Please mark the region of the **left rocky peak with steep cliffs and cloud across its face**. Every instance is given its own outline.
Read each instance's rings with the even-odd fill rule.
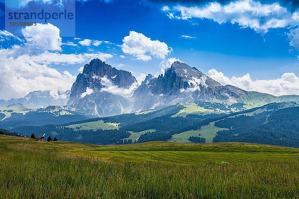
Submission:
[[[95,116],[116,115],[130,111],[131,101],[122,94],[136,78],[128,71],[117,70],[99,59],[84,66],[72,86],[68,105],[76,111]],[[119,90],[117,90],[119,89]]]

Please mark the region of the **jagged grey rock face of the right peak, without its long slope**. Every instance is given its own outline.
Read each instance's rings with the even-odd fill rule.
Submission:
[[[136,107],[141,110],[195,100],[229,99],[221,84],[178,61],[164,75],[153,78],[149,74],[134,98]]]

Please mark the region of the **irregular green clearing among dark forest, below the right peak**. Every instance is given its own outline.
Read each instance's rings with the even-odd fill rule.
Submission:
[[[188,139],[190,136],[198,136],[206,139],[206,143],[212,143],[213,138],[216,136],[217,131],[227,130],[227,128],[220,128],[215,126],[215,122],[202,126],[199,130],[189,130],[182,133],[172,135],[172,138],[167,140],[170,142],[191,143]]]

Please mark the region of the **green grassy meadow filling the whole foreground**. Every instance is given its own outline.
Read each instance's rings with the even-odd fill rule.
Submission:
[[[258,144],[96,146],[0,136],[0,198],[296,199],[299,150]]]

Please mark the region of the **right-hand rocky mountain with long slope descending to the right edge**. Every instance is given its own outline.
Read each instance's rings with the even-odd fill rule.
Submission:
[[[164,75],[148,75],[134,93],[135,107],[139,110],[161,108],[175,103],[196,100],[225,104],[244,103],[246,108],[270,102],[299,101],[299,96],[275,97],[258,92],[247,92],[209,78],[195,67],[174,62]]]

